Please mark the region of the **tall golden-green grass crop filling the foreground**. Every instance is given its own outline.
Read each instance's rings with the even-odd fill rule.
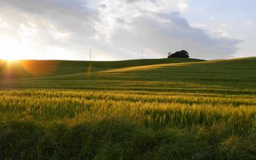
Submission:
[[[99,143],[97,140],[102,140],[100,144],[103,146],[108,143],[113,145],[131,143],[131,146],[137,149],[140,147],[136,145],[137,143],[142,143],[141,145],[145,145],[144,147],[150,144],[148,147],[158,149],[174,143],[177,148],[170,146],[168,147],[169,150],[175,149],[178,152],[183,152],[183,155],[179,156],[166,153],[166,157],[193,157],[196,153],[202,154],[202,157],[212,158],[234,157],[237,155],[252,157],[253,155],[249,153],[245,155],[243,151],[254,151],[253,146],[250,145],[253,145],[255,141],[250,140],[255,140],[255,99],[255,95],[211,93],[160,92],[156,94],[141,91],[9,90],[0,92],[0,123],[5,126],[5,129],[21,129],[22,132],[30,128],[26,127],[28,122],[31,122],[29,125],[32,125],[32,130],[39,129],[37,131],[39,133],[42,132],[40,131],[42,127],[44,131],[49,129],[45,134],[37,135],[41,137],[37,142],[38,146],[42,148],[42,150],[39,150],[40,157],[51,157],[60,154],[60,152],[55,154],[45,152],[43,149],[45,144],[41,144],[40,140],[43,140],[45,136],[48,137],[48,132],[52,134],[49,139],[55,139],[54,137],[57,134],[66,134],[61,135],[64,137],[75,136],[68,138],[68,140],[71,140],[68,142],[65,141],[67,137],[56,137],[54,142],[74,145],[75,148],[71,150],[77,152],[77,154],[73,157],[83,157],[80,155],[82,154],[80,151],[83,150],[79,148],[81,142],[76,140],[80,136],[89,136],[90,139],[96,139],[93,143]],[[58,124],[61,126],[58,126]],[[114,133],[111,134],[112,132]],[[36,134],[34,131],[32,133]],[[2,135],[2,137],[5,136],[6,134]],[[115,137],[113,140],[112,136]],[[131,136],[134,137],[131,138]],[[189,141],[183,141],[180,136],[183,139],[189,139]],[[102,137],[106,137],[106,139]],[[38,140],[36,137],[30,137],[27,140],[31,140],[31,138]],[[234,139],[239,140],[239,143],[232,141]],[[168,140],[174,141],[170,144]],[[30,142],[26,141],[26,143]],[[84,147],[90,146],[85,141],[82,143],[84,143]],[[183,143],[186,144],[188,151],[179,148],[183,146]],[[204,143],[207,147],[213,145],[219,148],[207,151],[206,148],[204,149]],[[236,154],[229,153],[227,155],[227,147],[235,144],[238,147],[235,149]],[[245,144],[250,145],[244,146]],[[191,145],[197,146],[197,150],[194,151]],[[146,156],[145,154],[148,151],[154,154],[155,158],[165,157],[156,148],[151,150],[143,147],[141,152],[137,153],[137,151],[129,151],[131,146],[119,146],[118,150],[127,149],[124,154],[130,158],[138,156],[137,154]],[[50,147],[57,150],[52,144]],[[108,149],[96,149],[95,147],[90,146],[88,149],[90,151],[114,151],[114,146],[109,146]],[[28,148],[30,147],[28,146]],[[60,149],[66,151],[65,147]],[[12,150],[8,146],[3,151]],[[10,152],[10,155],[15,154],[15,152],[18,153],[19,151]],[[32,156],[30,151],[28,153]],[[109,156],[105,153],[94,153],[94,155],[99,157]],[[120,157],[118,155],[116,156]],[[68,155],[66,156],[68,157]],[[58,157],[61,157],[61,155]],[[84,155],[84,157],[90,156]]]

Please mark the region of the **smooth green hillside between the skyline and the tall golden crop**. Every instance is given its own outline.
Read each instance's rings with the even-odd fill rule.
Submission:
[[[15,76],[9,80],[11,82],[9,84],[6,84],[6,78],[3,79],[2,71],[3,80],[0,81],[0,85],[3,88],[46,89],[129,89],[129,87],[146,89],[145,86],[148,85],[148,89],[172,89],[171,87],[176,88],[182,84],[193,83],[230,89],[256,88],[256,58],[210,61],[127,60],[91,63],[54,61],[54,63],[57,64],[55,70],[40,77],[33,77],[18,66],[18,69],[12,70],[15,72]],[[33,65],[37,64],[38,62],[33,63]],[[154,83],[166,84],[154,86]],[[166,85],[170,87],[166,88]],[[181,87],[183,88],[183,86]]]

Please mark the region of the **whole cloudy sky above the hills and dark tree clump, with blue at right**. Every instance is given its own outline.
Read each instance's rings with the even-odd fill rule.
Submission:
[[[0,59],[256,56],[253,0],[0,0]]]

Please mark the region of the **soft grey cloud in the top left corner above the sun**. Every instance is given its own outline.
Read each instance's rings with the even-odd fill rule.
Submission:
[[[90,9],[86,3],[79,0],[9,0],[0,1],[0,6],[3,12],[20,16],[21,19],[11,17],[20,23],[40,23],[39,19],[47,20],[51,25],[71,32],[93,33],[91,22],[97,19],[96,10]]]

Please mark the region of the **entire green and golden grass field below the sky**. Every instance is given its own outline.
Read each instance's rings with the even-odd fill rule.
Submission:
[[[256,58],[0,61],[0,159],[256,159]]]

